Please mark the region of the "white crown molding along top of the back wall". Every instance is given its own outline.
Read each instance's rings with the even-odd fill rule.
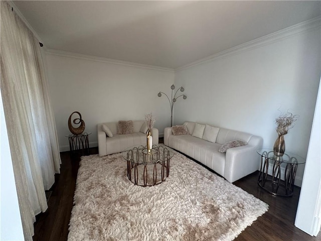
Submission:
[[[134,67],[134,68],[159,70],[159,71],[166,71],[166,72],[173,72],[173,73],[175,72],[174,69],[171,69],[171,68],[158,67],[158,66],[148,65],[148,64],[138,64],[134,62],[96,57],[96,56],[91,56],[86,54],[77,54],[77,53],[65,52],[65,51],[55,50],[55,49],[46,49],[46,53],[50,55],[56,55],[56,56],[61,56],[66,58],[82,59],[82,60],[101,62],[101,63],[107,63],[107,64],[118,64],[118,65],[123,65],[128,67]]]

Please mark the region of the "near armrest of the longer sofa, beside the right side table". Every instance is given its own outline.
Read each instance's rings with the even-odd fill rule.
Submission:
[[[263,139],[253,136],[248,145],[226,151],[224,177],[229,182],[245,177],[260,168],[260,156],[256,150],[262,148]]]

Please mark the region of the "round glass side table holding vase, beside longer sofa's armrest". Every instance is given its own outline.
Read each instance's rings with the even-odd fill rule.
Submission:
[[[305,163],[305,159],[289,152],[284,153],[282,157],[278,157],[274,155],[273,149],[266,148],[257,150],[257,153],[261,156],[258,185],[275,196],[292,196],[297,165]],[[284,167],[284,179],[281,178],[282,165]],[[272,175],[268,175],[269,168]]]

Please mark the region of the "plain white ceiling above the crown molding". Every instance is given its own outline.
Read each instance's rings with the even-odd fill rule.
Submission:
[[[176,69],[321,15],[320,1],[14,1],[49,49]]]

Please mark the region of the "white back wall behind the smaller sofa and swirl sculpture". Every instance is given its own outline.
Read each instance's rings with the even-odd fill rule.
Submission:
[[[159,134],[170,125],[170,108],[157,97],[174,83],[174,71],[118,64],[83,55],[48,51],[48,80],[60,151],[69,151],[68,118],[79,111],[90,146],[97,144],[97,124],[144,119],[152,112]],[[76,114],[74,116],[77,116]]]

